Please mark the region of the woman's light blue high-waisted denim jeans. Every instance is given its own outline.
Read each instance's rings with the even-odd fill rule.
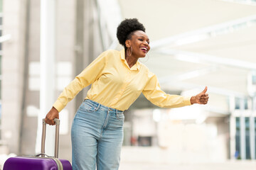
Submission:
[[[118,169],[123,124],[123,111],[91,100],[82,102],[71,128],[73,170]]]

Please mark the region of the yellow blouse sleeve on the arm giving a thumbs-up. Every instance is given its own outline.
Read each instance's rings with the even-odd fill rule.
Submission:
[[[149,79],[142,94],[144,94],[151,103],[161,108],[178,108],[191,105],[191,96],[171,95],[161,91],[156,75],[151,72],[149,72]]]

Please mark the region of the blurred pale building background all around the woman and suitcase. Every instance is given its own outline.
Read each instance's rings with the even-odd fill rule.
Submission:
[[[139,96],[124,113],[120,169],[256,169],[255,0],[0,0],[0,167],[40,152],[41,118],[101,52],[122,49],[124,18],[144,24],[151,51],[141,62],[161,89],[208,86],[210,100],[166,109]],[[60,112],[60,158],[71,160],[86,92]]]

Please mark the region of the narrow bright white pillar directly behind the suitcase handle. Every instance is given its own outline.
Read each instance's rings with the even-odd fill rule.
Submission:
[[[42,119],[55,101],[55,0],[41,1],[41,87],[40,87],[40,115],[38,115],[38,132],[36,138],[36,152],[41,152]],[[55,127],[47,126],[46,154],[54,155]]]

